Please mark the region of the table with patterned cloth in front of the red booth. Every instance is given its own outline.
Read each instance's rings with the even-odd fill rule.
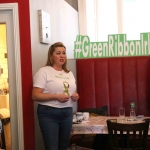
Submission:
[[[80,124],[72,125],[71,134],[108,134],[107,130],[107,119],[117,119],[117,122],[122,123],[139,123],[142,122],[143,119],[148,118],[144,117],[142,119],[137,119],[137,121],[127,121],[129,117],[125,117],[125,120],[122,121],[119,117],[104,117],[104,116],[90,116],[88,121],[83,121]],[[149,129],[150,134],[150,129]]]

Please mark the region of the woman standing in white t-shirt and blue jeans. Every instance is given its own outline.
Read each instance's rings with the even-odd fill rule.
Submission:
[[[45,150],[67,150],[72,128],[73,101],[79,99],[75,78],[66,67],[66,47],[54,43],[46,66],[34,76],[32,98],[38,102],[37,115]]]

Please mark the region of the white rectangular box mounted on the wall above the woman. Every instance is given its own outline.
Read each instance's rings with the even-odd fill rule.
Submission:
[[[50,14],[43,10],[38,10],[39,14],[39,34],[41,43],[50,43]]]

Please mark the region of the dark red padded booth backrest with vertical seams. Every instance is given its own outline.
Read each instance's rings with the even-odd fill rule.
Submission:
[[[109,115],[126,115],[130,101],[136,114],[150,116],[150,57],[77,59],[78,111],[107,105]]]

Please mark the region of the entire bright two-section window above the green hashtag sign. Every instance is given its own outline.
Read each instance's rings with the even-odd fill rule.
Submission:
[[[87,35],[91,42],[107,41],[108,35],[120,34],[118,28],[127,34],[127,40],[138,40],[140,33],[150,32],[150,0],[84,1]]]

